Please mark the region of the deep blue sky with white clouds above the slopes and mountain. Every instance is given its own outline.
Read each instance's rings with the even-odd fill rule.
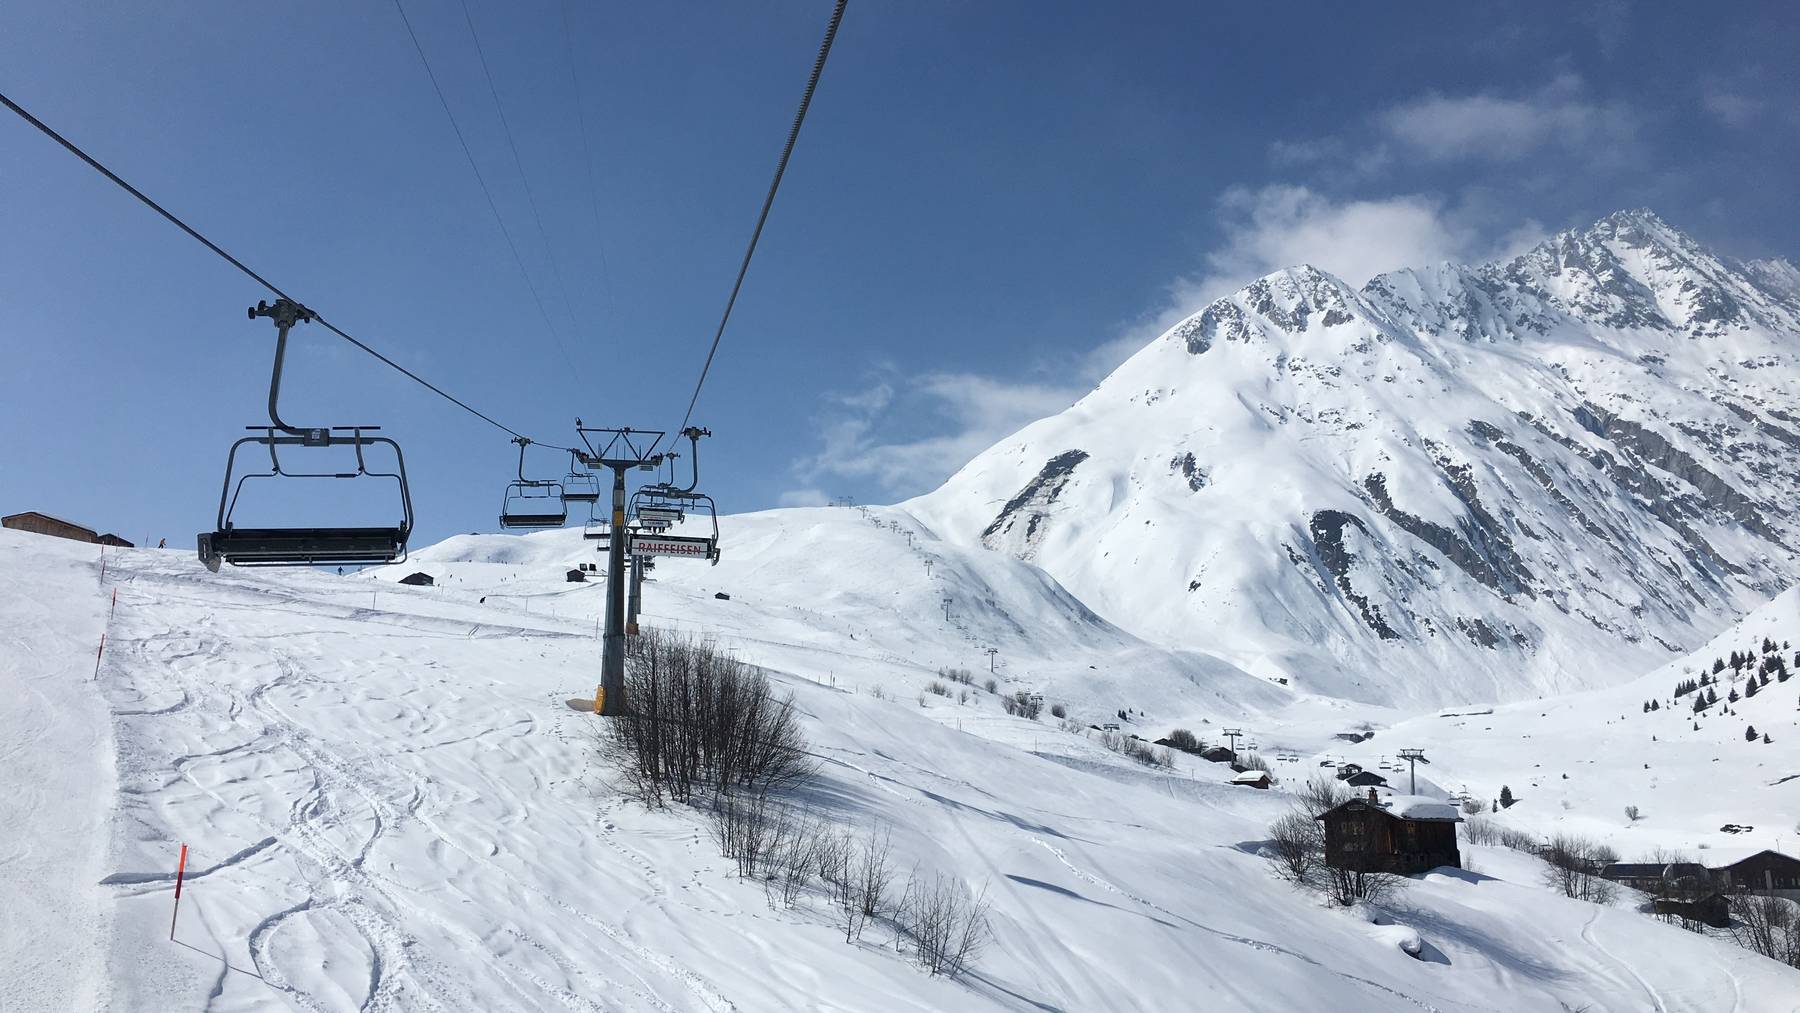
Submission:
[[[830,4],[468,0],[524,178],[461,4],[405,9],[554,333],[392,4],[13,0],[0,90],[515,428],[675,425]],[[1361,282],[1638,205],[1800,254],[1796,43],[1778,4],[853,0],[695,414],[706,486],[925,491],[1287,263]],[[265,295],[0,122],[0,513],[191,545]],[[493,529],[504,434],[322,333],[284,392],[407,446],[421,538]]]

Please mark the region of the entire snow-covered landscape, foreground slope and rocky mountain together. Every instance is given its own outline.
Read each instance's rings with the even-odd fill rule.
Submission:
[[[1793,268],[1649,212],[1292,268],[925,497],[659,561],[644,626],[792,693],[815,826],[988,905],[961,975],[621,790],[580,529],[346,576],[0,531],[0,1009],[1800,1009],[1800,970],[1514,847],[1348,907],[1269,856],[1345,763],[1627,862],[1800,853],[1800,680],[1742,693],[1800,669],[1796,342]],[[1120,750],[1175,729],[1274,788]]]

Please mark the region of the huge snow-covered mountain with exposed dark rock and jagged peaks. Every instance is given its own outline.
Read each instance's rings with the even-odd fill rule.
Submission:
[[[1796,353],[1793,264],[1649,211],[1361,291],[1296,266],[904,506],[1300,689],[1580,689],[1800,576]]]

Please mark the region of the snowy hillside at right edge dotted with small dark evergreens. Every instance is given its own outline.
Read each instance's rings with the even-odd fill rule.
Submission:
[[[1800,588],[1690,657],[1622,686],[1492,709],[1454,707],[1330,752],[1373,768],[1402,747],[1424,749],[1431,765],[1418,768],[1420,777],[1435,788],[1467,786],[1492,801],[1510,786],[1517,804],[1498,817],[1505,824],[1537,835],[1580,833],[1627,858],[1658,847],[1705,862],[1762,847],[1793,855],[1800,844],[1800,678],[1771,677],[1742,696],[1748,677],[1733,678],[1726,668],[1717,677],[1719,704],[1694,713],[1694,695],[1674,696],[1679,682],[1710,675],[1715,659],[1764,657],[1766,639],[1795,671]],[[1733,691],[1739,700],[1728,702]],[[1645,713],[1651,700],[1658,709]],[[1757,741],[1746,741],[1751,725]],[[1397,777],[1406,783],[1404,772]],[[1636,806],[1640,819],[1629,819],[1625,806]],[[1753,829],[1728,833],[1724,826]]]

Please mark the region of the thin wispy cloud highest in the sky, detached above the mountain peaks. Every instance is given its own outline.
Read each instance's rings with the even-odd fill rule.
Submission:
[[[1595,103],[1580,77],[1564,74],[1535,94],[1426,95],[1375,117],[1386,137],[1433,162],[1516,162],[1544,148],[1609,153],[1636,135],[1636,117]]]

